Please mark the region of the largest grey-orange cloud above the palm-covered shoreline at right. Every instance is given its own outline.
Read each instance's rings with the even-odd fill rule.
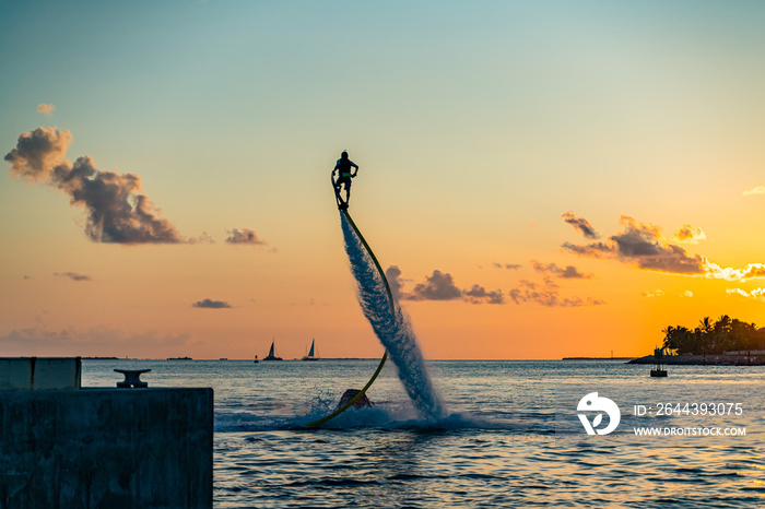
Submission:
[[[637,263],[643,270],[673,274],[703,274],[706,259],[690,257],[685,249],[667,242],[661,229],[651,224],[639,223],[623,215],[620,221],[624,230],[612,235],[608,242],[575,246],[565,242],[564,250],[591,258],[615,258],[626,263]]]

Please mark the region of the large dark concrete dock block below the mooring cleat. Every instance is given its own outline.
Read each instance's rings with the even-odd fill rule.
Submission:
[[[0,509],[212,507],[212,389],[0,391]]]

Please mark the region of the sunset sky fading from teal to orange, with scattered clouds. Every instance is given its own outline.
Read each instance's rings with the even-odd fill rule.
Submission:
[[[765,3],[0,2],[0,356],[427,358],[765,325]]]

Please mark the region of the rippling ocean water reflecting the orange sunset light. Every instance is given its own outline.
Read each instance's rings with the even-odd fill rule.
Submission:
[[[372,409],[305,427],[376,365],[83,360],[83,386],[151,368],[150,387],[212,387],[216,508],[765,507],[763,367],[670,366],[651,379],[649,366],[613,360],[428,362],[444,406],[432,421],[388,364]],[[609,422],[577,411],[592,392],[621,412],[609,435],[588,435],[578,417]]]

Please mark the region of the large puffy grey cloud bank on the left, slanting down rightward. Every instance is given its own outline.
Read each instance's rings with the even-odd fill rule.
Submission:
[[[64,158],[72,137],[69,131],[37,128],[19,137],[5,155],[11,175],[60,189],[73,205],[87,211],[85,234],[96,242],[174,244],[185,241],[175,227],[157,216],[154,204],[141,191],[133,174],[99,171],[91,156],[74,164]]]

